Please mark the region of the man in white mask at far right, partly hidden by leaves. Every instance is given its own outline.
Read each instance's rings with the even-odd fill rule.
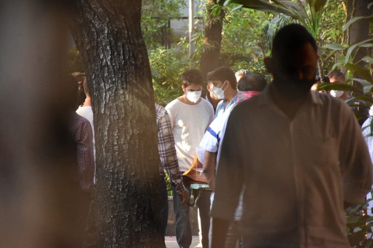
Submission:
[[[328,75],[330,83],[345,83],[345,75],[340,71],[333,71]],[[336,98],[342,99],[349,106],[351,106],[352,112],[354,112],[360,126],[363,125],[364,121],[367,120],[369,116],[369,108],[364,101],[360,99],[355,99],[353,96],[347,94],[343,90],[330,90],[330,95]]]

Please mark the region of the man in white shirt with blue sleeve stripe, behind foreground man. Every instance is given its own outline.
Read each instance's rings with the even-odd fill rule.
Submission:
[[[250,99],[252,96],[259,94],[264,88],[266,88],[266,80],[256,74],[250,74],[242,77],[237,84],[238,93],[237,93],[237,102],[242,102],[247,99]],[[212,191],[215,188],[215,173],[216,166],[219,163],[219,155],[221,150],[219,149],[224,136],[223,126],[226,118],[229,117],[229,113],[236,105],[232,106],[231,109],[226,111],[223,114],[220,114],[207,129],[204,134],[200,147],[201,152],[204,151],[204,155],[199,155],[198,159],[203,163],[203,172],[207,179],[207,182]],[[253,117],[255,118],[255,117]],[[239,147],[236,147],[239,149]],[[198,154],[198,153],[197,153]],[[214,193],[211,194],[211,204],[214,200]],[[233,221],[229,227],[227,233],[226,247],[235,247],[237,238],[238,238],[238,221],[241,220],[242,215],[242,199],[241,204],[237,209],[235,214],[235,221]],[[211,227],[210,227],[210,240],[211,240]]]

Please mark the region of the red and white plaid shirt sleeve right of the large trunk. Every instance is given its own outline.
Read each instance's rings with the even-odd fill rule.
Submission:
[[[170,118],[165,109],[161,112],[162,109],[162,106],[156,105],[157,117],[160,117],[158,120],[158,151],[162,165],[161,169],[166,170],[170,176],[170,181],[175,185],[176,192],[181,194],[186,188],[182,173],[179,171]]]

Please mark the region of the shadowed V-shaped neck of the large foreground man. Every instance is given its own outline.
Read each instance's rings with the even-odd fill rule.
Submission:
[[[269,92],[272,96],[273,102],[288,117],[290,121],[293,120],[295,114],[297,114],[298,109],[303,104],[305,99],[310,97],[310,93],[308,93],[307,95],[300,98],[291,98],[283,95],[281,91],[276,89],[276,85],[274,85],[273,83],[271,83],[269,87]]]

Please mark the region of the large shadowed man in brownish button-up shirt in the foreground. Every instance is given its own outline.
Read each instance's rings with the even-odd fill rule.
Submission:
[[[226,122],[212,247],[224,246],[243,186],[244,247],[350,247],[344,206],[372,185],[360,126],[346,104],[310,90],[317,46],[303,26],[280,29],[264,62],[273,82]]]

